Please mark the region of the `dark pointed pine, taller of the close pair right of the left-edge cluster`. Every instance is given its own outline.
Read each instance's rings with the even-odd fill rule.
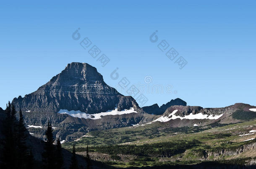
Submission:
[[[45,132],[47,141],[44,146],[43,163],[44,169],[55,168],[55,146],[53,145],[54,139],[52,134],[52,125],[48,121],[47,131]]]

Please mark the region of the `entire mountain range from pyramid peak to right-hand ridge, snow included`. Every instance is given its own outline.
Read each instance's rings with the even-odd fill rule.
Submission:
[[[171,127],[231,124],[255,118],[248,104],[224,108],[187,106],[180,98],[162,106],[139,107],[131,96],[123,96],[108,86],[97,69],[87,63],[69,63],[37,91],[14,98],[33,136],[44,139],[47,121],[53,135],[62,142],[73,141],[89,131],[106,130],[148,123],[170,123]],[[234,113],[234,114],[233,114]]]

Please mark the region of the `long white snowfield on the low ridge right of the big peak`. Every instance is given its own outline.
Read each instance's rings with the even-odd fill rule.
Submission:
[[[189,114],[187,116],[184,116],[184,117],[180,117],[180,116],[175,116],[175,113],[177,112],[178,110],[175,110],[175,111],[172,111],[171,114],[169,114],[168,116],[161,116],[159,117],[158,119],[154,120],[154,121],[161,121],[161,122],[167,122],[167,121],[170,121],[170,120],[174,120],[174,119],[219,119],[223,114],[220,114],[218,116],[213,116],[212,114],[211,115],[207,115],[207,114],[202,114],[202,113],[199,113],[199,114]],[[154,122],[153,121],[153,122]]]

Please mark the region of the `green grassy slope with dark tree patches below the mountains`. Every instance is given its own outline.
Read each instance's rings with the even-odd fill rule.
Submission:
[[[118,167],[198,164],[214,160],[246,164],[256,157],[255,146],[250,147],[256,144],[256,139],[245,141],[256,137],[256,133],[249,133],[251,130],[256,130],[256,121],[191,128],[154,123],[92,131],[63,147],[71,149],[75,144],[78,154],[84,154],[89,144],[92,159]]]

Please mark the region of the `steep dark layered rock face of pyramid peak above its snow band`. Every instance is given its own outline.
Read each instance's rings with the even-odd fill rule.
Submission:
[[[125,108],[139,108],[131,96],[123,96],[104,81],[97,69],[87,63],[70,63],[37,91],[13,99],[22,111],[58,112],[80,110],[94,114]]]

